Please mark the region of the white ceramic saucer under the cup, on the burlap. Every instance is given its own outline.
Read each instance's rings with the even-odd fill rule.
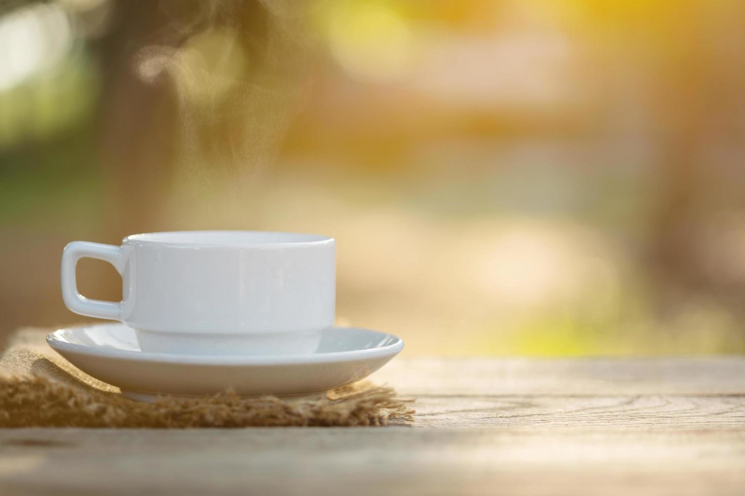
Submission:
[[[244,396],[322,393],[364,379],[404,347],[401,338],[384,332],[331,327],[320,331],[310,353],[144,352],[136,331],[122,323],[59,329],[47,343],[83,372],[141,401],[159,394],[210,395],[227,387]]]

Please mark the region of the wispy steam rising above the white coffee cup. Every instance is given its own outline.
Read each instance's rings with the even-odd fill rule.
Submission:
[[[174,207],[205,195],[241,204],[259,182],[302,101],[309,5],[162,2],[168,25],[134,68],[176,97]]]

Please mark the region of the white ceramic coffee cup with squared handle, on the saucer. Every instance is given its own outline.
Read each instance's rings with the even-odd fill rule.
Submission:
[[[77,292],[75,265],[83,257],[114,265],[122,301]],[[335,277],[334,239],[313,234],[145,233],[121,246],[71,242],[62,257],[66,306],[137,329],[142,349],[156,352],[312,351],[315,332],[334,323]]]

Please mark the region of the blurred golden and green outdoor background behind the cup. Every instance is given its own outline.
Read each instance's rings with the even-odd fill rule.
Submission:
[[[745,352],[744,61],[738,0],[3,1],[0,337],[225,228],[409,355]]]

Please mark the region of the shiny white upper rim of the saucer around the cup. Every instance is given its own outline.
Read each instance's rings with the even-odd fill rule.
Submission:
[[[364,327],[332,326],[329,329],[358,329],[375,335],[387,335],[395,338],[391,344],[367,350],[346,350],[324,353],[299,353],[295,355],[193,355],[156,353],[135,350],[112,350],[102,347],[92,347],[84,344],[70,343],[64,340],[63,332],[75,332],[77,329],[90,329],[99,326],[122,326],[123,323],[98,323],[86,326],[61,327],[50,332],[46,337],[47,344],[56,352],[75,353],[92,357],[105,357],[119,360],[148,361],[172,364],[244,366],[244,365],[288,365],[288,364],[319,364],[329,362],[358,361],[361,359],[386,358],[398,355],[404,348],[404,340],[390,332],[375,331]],[[321,331],[323,332],[323,331]]]

